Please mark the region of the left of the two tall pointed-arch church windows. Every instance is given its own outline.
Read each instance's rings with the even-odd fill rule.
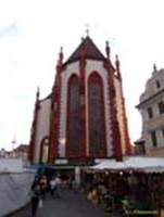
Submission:
[[[76,75],[73,75],[68,81],[68,152],[71,155],[78,153],[78,133],[79,133],[79,84]]]

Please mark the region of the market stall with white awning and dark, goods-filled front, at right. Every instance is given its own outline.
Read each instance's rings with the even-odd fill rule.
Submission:
[[[124,157],[123,162],[104,159],[86,173],[92,174],[92,182],[89,184],[97,189],[97,204],[105,203],[109,209],[123,212],[124,208],[126,212],[136,212],[136,216],[141,215],[138,212],[157,216],[164,206],[162,157],[129,156]]]

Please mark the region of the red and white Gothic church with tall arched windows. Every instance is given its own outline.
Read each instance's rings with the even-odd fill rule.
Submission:
[[[36,94],[29,145],[31,163],[90,164],[130,154],[119,61],[115,67],[87,36],[63,62],[59,54],[52,92]]]

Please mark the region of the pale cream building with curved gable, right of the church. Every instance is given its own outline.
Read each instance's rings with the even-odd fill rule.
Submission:
[[[164,156],[164,69],[157,71],[154,65],[137,107],[142,116],[141,138],[146,154]]]

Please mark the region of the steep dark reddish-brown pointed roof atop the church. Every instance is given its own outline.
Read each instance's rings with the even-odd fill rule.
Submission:
[[[91,40],[91,38],[87,36],[85,39],[83,39],[81,43],[73,52],[73,54],[67,59],[65,64],[78,61],[81,56],[83,50],[85,50],[84,56],[86,59],[99,60],[99,61],[105,59],[104,55],[101,53],[101,51],[97,48],[94,42]]]

